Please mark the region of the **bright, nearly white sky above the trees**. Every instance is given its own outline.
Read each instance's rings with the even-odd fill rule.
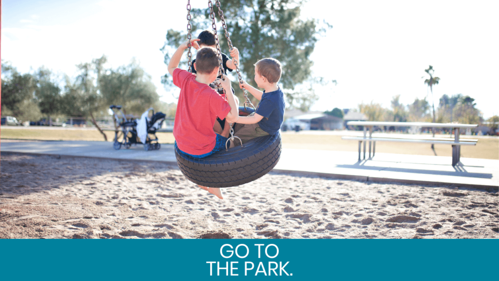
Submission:
[[[191,0],[191,5],[207,2]],[[172,93],[178,92],[161,84],[167,66],[160,48],[168,29],[186,29],[186,4],[2,0],[1,59],[21,73],[44,65],[74,75],[76,64],[102,54],[113,68],[135,58],[152,76],[161,100],[176,102]],[[461,93],[475,98],[485,118],[498,115],[498,11],[496,0],[309,0],[301,16],[333,25],[310,56],[313,73],[337,81],[314,87],[319,100],[311,109],[357,108],[371,101],[389,107],[398,94],[404,104],[431,100],[422,78],[431,64],[440,77],[433,88],[436,106],[443,94]]]

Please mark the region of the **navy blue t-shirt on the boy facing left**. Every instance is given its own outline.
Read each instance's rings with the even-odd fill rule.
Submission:
[[[285,107],[284,94],[280,87],[271,92],[263,91],[261,100],[256,106],[256,113],[263,116],[258,122],[260,128],[268,134],[276,133],[282,125]]]

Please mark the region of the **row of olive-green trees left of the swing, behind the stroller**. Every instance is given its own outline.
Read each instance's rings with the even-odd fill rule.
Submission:
[[[135,60],[117,69],[105,68],[106,61],[103,55],[76,65],[78,75],[74,79],[65,75],[62,89],[49,69],[20,74],[2,62],[2,114],[36,121],[55,115],[108,115],[111,104],[123,105],[137,115],[148,107],[158,109],[159,95],[151,76]]]

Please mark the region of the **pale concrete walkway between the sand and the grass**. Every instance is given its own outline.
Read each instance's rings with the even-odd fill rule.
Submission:
[[[3,139],[0,152],[54,154],[119,160],[162,161],[176,165],[173,144],[145,151],[142,145],[114,150],[104,141],[19,141]],[[357,161],[357,152],[283,148],[273,171],[316,174],[364,181],[394,181],[416,184],[470,186],[498,190],[499,160],[461,158],[453,167],[450,156],[376,153],[373,159]]]

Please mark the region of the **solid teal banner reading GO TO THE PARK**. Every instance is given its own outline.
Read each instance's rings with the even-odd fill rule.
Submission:
[[[499,240],[0,240],[1,280],[485,280]]]

